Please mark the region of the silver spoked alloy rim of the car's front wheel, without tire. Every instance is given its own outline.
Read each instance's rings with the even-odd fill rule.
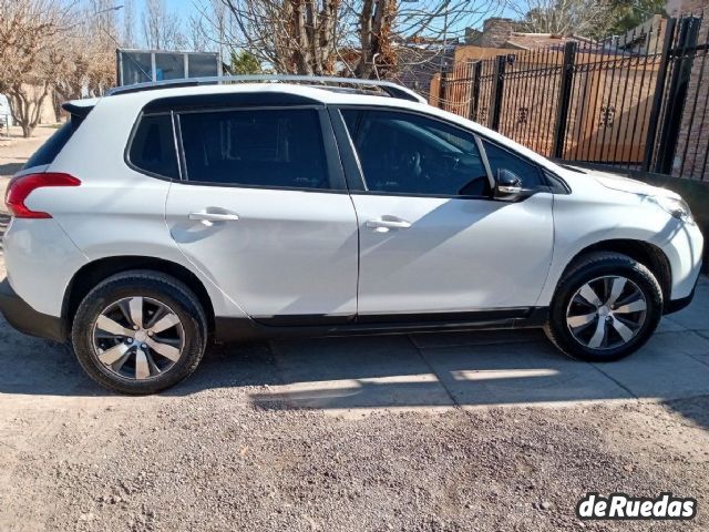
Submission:
[[[638,285],[623,276],[604,276],[576,290],[566,310],[566,326],[582,346],[616,349],[637,336],[646,313],[647,300]]]

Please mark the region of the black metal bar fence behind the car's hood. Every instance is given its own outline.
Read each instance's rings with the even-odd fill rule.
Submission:
[[[544,155],[709,181],[709,23],[655,18],[444,73],[439,105]]]

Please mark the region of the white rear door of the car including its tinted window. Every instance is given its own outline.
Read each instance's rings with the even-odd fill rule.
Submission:
[[[357,310],[358,227],[322,106],[175,113],[183,181],[166,222],[195,267],[274,325]]]

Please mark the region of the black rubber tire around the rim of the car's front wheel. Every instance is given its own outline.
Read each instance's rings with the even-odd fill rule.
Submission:
[[[623,276],[631,280],[645,297],[646,309],[643,324],[627,342],[618,347],[594,349],[572,334],[572,326],[567,325],[567,310],[577,290],[604,276]],[[544,330],[549,340],[572,358],[593,362],[618,360],[638,350],[653,336],[662,316],[662,303],[660,285],[646,266],[619,253],[592,253],[576,259],[559,280]]]

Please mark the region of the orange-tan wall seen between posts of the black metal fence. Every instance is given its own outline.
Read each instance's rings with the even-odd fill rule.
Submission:
[[[500,133],[547,156],[553,154],[563,59],[561,49],[520,52],[505,74]],[[483,61],[475,115],[471,114],[472,61],[456,63],[448,74],[440,106],[490,126],[494,62]],[[564,157],[641,164],[658,66],[659,58],[579,54]],[[431,104],[438,103],[438,98],[431,99]]]

